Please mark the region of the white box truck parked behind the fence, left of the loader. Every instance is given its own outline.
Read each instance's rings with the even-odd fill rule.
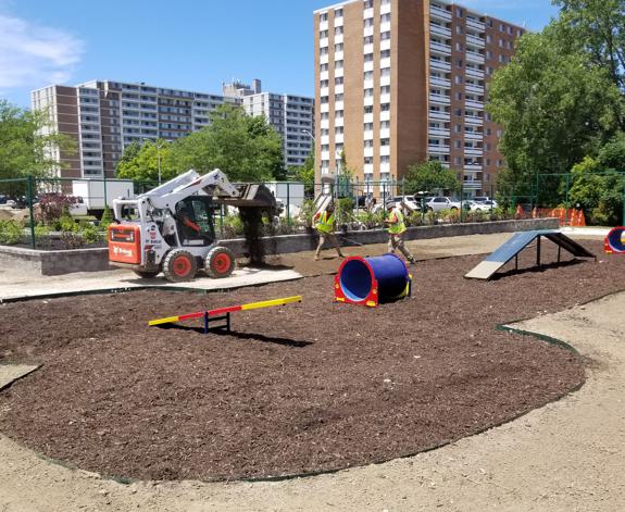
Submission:
[[[86,215],[89,211],[104,210],[105,205],[113,208],[113,199],[135,197],[135,187],[129,179],[80,179],[73,182],[72,195],[78,198],[78,203],[72,207],[71,213]]]

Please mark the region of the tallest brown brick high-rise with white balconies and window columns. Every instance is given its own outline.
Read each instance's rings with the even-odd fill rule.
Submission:
[[[314,27],[317,177],[343,152],[365,183],[437,159],[466,195],[491,190],[503,157],[486,85],[523,28],[443,0],[350,0]]]

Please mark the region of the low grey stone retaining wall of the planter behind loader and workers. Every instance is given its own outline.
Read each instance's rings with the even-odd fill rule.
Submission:
[[[558,218],[535,218],[524,221],[480,222],[474,224],[448,224],[440,226],[420,226],[408,229],[407,239],[446,238],[466,235],[488,235],[492,233],[528,232],[534,229],[558,229]],[[386,243],[388,235],[384,229],[350,232],[339,234],[343,246]],[[267,254],[312,251],[316,248],[315,235],[284,235],[265,238]],[[222,245],[232,249],[237,257],[246,253],[245,240],[222,240]],[[0,246],[0,264],[5,267],[40,272],[41,275],[61,275],[72,272],[98,272],[110,270],[109,250],[74,249],[66,251],[39,251],[16,247]]]

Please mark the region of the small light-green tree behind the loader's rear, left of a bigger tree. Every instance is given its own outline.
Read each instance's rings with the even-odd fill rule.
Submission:
[[[165,140],[147,140],[142,146],[133,142],[126,147],[117,162],[116,177],[135,182],[157,182],[159,179],[159,160],[161,179],[167,182],[176,176],[177,168],[172,157],[172,143]]]

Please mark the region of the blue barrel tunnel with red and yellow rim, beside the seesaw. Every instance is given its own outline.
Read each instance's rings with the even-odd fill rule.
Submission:
[[[349,304],[377,307],[409,297],[412,276],[395,254],[346,259],[335,276],[335,299]]]

